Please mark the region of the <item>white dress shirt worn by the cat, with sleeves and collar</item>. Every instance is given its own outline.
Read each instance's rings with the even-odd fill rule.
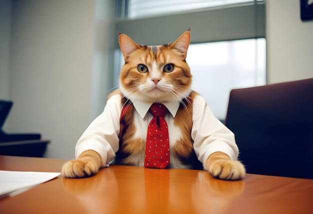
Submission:
[[[101,155],[105,165],[113,160],[119,146],[119,119],[122,108],[120,100],[119,94],[113,95],[107,100],[103,112],[90,123],[78,139],[75,147],[76,157],[83,151],[92,149]],[[152,103],[140,100],[132,100],[132,103],[135,108],[133,116],[137,127],[135,135],[145,140],[148,123],[152,119],[152,115],[147,112]],[[180,103],[172,101],[163,102],[163,104],[170,112],[164,118],[168,126],[171,147],[179,139],[180,129],[173,124],[173,121]],[[213,115],[200,95],[196,95],[193,99],[192,122],[193,149],[200,162],[205,162],[208,156],[215,151],[222,151],[233,160],[237,158],[238,147],[234,140],[234,134]],[[171,161],[170,167],[183,166]]]

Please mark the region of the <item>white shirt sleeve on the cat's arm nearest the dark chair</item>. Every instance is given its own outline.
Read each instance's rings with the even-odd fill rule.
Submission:
[[[238,157],[238,147],[234,134],[212,113],[204,98],[197,95],[193,99],[192,109],[193,149],[200,162],[216,151],[226,153],[231,159]]]

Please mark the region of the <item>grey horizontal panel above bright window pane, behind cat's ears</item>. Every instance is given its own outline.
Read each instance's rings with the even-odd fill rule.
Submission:
[[[135,42],[147,45],[172,42],[190,27],[191,43],[265,37],[264,2],[254,0],[196,11],[115,20],[117,32],[126,33]],[[114,45],[118,48],[117,39]]]

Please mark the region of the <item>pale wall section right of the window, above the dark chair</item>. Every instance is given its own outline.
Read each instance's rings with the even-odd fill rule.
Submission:
[[[268,83],[313,78],[313,20],[299,0],[266,0]]]

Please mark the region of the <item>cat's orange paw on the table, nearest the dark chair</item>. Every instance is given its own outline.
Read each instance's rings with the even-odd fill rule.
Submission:
[[[211,154],[205,168],[213,177],[223,180],[239,180],[245,175],[244,165],[238,160],[231,160],[222,152]]]

